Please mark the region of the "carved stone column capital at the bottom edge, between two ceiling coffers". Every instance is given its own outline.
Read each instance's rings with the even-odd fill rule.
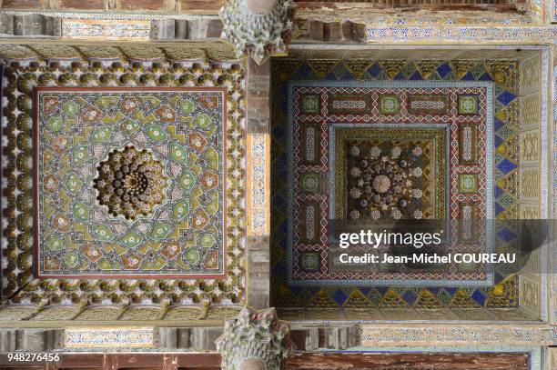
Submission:
[[[223,370],[279,370],[280,361],[295,349],[289,325],[279,321],[274,308],[244,308],[237,318],[227,321],[217,340]]]

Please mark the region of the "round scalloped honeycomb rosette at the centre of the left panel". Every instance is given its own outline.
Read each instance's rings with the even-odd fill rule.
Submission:
[[[163,203],[167,176],[164,166],[146,149],[127,146],[113,150],[96,167],[93,180],[97,201],[108,206],[111,215],[135,219],[150,215],[156,205]]]

